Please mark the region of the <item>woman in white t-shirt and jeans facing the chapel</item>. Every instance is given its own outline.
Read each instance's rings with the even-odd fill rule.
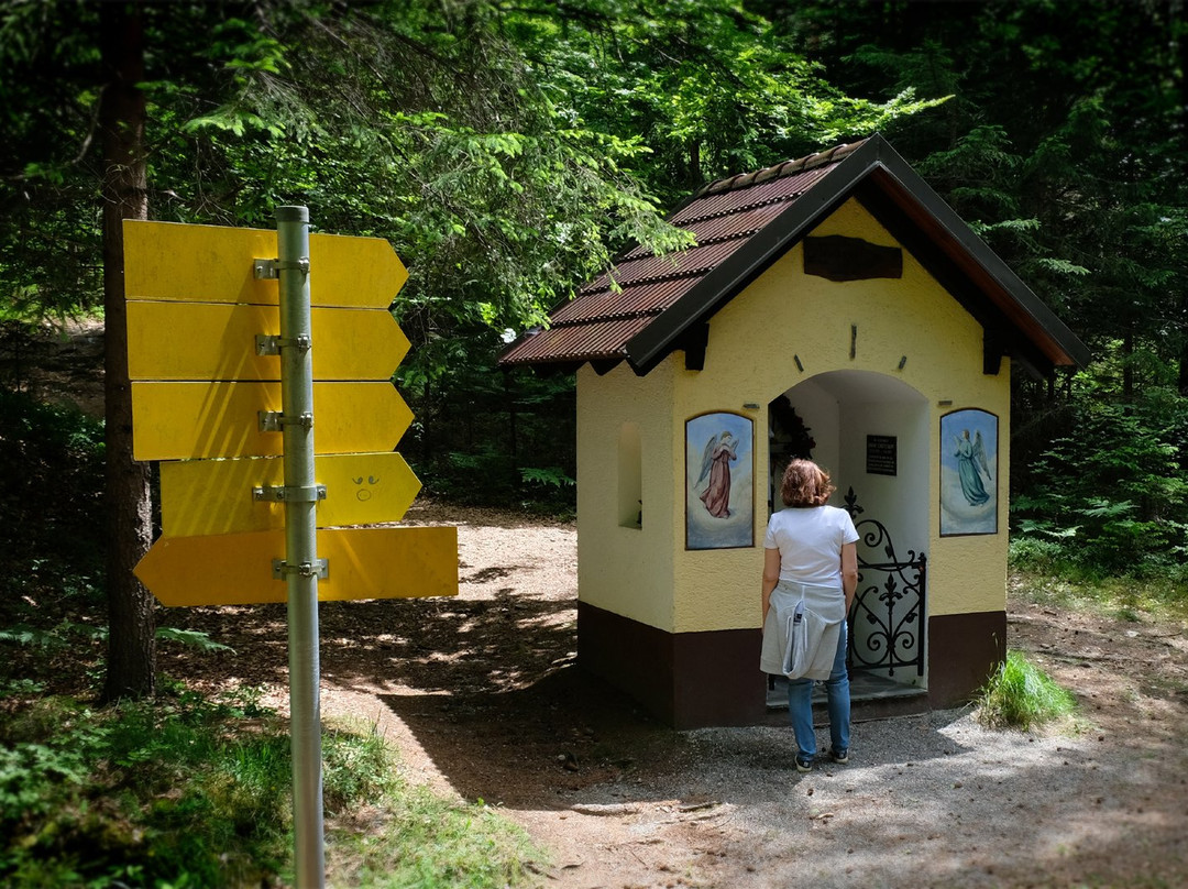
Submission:
[[[858,531],[848,512],[826,505],[835,490],[815,462],[792,460],[781,484],[789,509],[772,515],[764,540],[759,666],[789,676],[797,771],[809,771],[816,757],[815,679],[826,683],[833,761],[849,759],[846,614],[858,588]]]

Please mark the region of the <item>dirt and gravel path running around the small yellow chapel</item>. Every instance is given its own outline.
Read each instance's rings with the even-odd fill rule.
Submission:
[[[410,521],[459,525],[461,595],[323,605],[323,710],[378,723],[412,780],[523,825],[550,850],[543,885],[1188,884],[1183,626],[1017,606],[1009,644],[1076,692],[1082,732],[986,732],[963,711],[865,723],[851,765],[802,777],[786,730],[672,732],[576,669],[573,525]],[[235,648],[203,660],[210,681],[274,685],[283,705],[282,610],[169,617]]]

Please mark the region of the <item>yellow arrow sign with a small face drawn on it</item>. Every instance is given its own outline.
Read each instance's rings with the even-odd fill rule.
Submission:
[[[394,452],[323,454],[315,458],[314,478],[326,486],[326,499],[317,502],[318,528],[399,522],[421,490],[421,480]],[[190,537],[284,528],[284,503],[253,494],[283,485],[277,456],[163,462],[162,531]]]

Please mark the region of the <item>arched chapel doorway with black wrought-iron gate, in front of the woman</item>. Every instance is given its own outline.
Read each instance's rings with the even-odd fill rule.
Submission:
[[[870,371],[816,374],[769,404],[769,509],[783,507],[778,485],[788,460],[809,456],[829,471],[834,505],[851,509],[862,535],[851,622],[855,700],[927,688],[923,562],[889,566],[927,555],[929,416],[923,395]],[[779,694],[773,689],[771,699]]]

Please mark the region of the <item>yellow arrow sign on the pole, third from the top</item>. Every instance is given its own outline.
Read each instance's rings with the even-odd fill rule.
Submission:
[[[315,383],[314,404],[318,454],[391,450],[412,423],[391,383]],[[133,458],[276,456],[259,412],[279,410],[279,383],[133,383]]]

